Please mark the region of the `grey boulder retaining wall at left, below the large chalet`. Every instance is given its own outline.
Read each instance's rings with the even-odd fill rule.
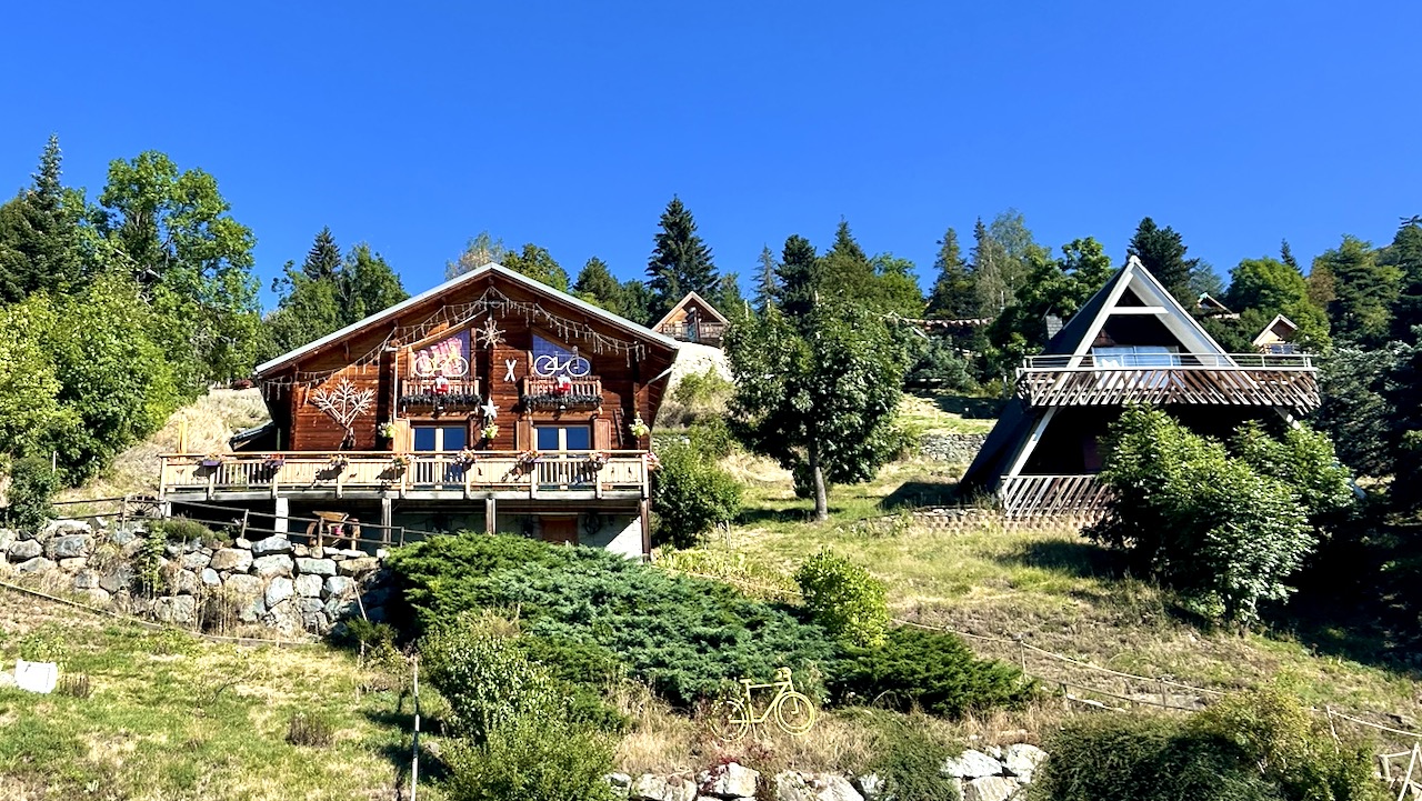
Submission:
[[[195,539],[168,542],[145,559],[148,538],[145,521],[104,526],[60,519],[34,534],[0,529],[0,573],[71,590],[91,606],[219,632],[260,623],[284,635],[324,635],[360,616],[361,606],[371,620],[384,619],[388,575],[364,551],[309,548],[284,536]],[[154,592],[142,586],[149,569]]]

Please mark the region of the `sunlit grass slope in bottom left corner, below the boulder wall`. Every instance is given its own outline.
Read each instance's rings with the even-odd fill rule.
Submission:
[[[0,590],[0,662],[44,653],[92,694],[0,690],[3,798],[388,798],[408,763],[395,691],[324,646],[215,644]],[[299,710],[336,743],[286,743]]]

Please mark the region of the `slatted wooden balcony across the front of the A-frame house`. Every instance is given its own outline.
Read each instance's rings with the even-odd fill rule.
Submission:
[[[1031,405],[1217,404],[1318,408],[1307,353],[1030,356],[1017,394]]]

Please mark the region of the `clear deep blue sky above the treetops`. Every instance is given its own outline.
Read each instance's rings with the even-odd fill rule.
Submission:
[[[300,7],[299,7],[300,6]],[[218,178],[263,295],[328,225],[418,292],[489,230],[643,275],[673,193],[721,270],[840,216],[931,280],[1015,206],[1221,273],[1422,213],[1422,4],[17,3],[0,193],[48,134],[95,196],[144,149]],[[967,242],[966,242],[967,243]]]

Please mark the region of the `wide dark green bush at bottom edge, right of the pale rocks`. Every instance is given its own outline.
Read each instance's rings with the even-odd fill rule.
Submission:
[[[1045,743],[1032,798],[1054,801],[1381,801],[1371,757],[1335,748],[1298,703],[1263,690],[1187,720],[1076,718]],[[1039,795],[1037,795],[1039,794]]]

